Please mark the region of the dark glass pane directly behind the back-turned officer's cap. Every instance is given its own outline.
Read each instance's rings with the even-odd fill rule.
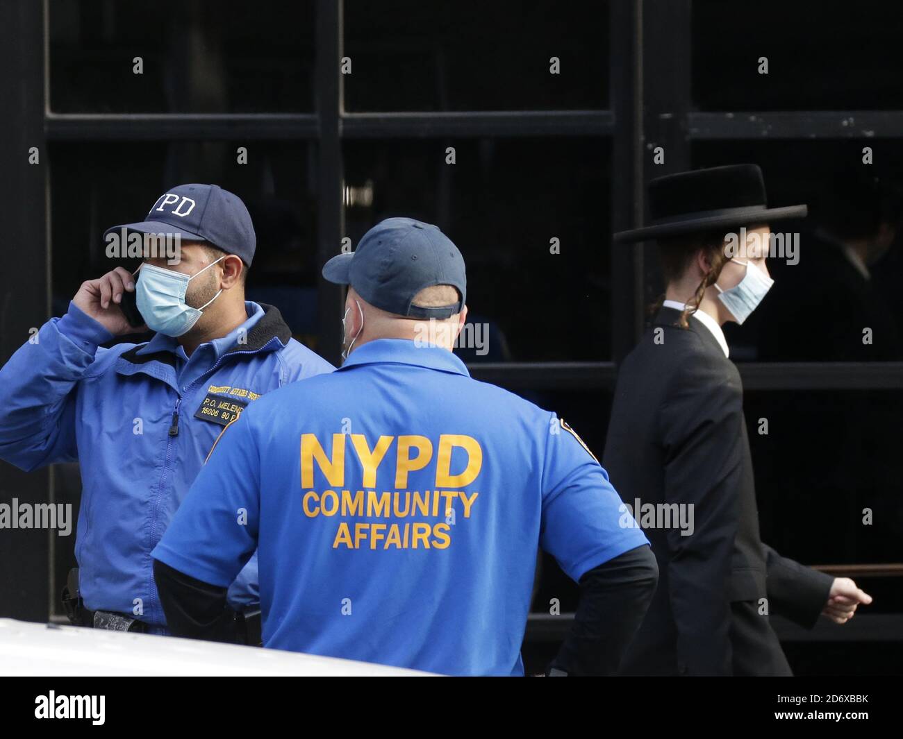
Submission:
[[[345,167],[354,245],[382,218],[410,216],[461,248],[489,358],[610,358],[608,140],[350,141]]]

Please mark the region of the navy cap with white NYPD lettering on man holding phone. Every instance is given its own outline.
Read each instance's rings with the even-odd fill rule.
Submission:
[[[180,236],[206,241],[240,256],[248,266],[254,259],[257,237],[251,215],[241,199],[218,185],[179,185],[163,193],[140,223],[113,226],[107,234],[125,228],[142,234]]]

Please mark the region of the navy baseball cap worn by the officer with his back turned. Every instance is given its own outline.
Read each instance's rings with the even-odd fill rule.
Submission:
[[[386,218],[373,226],[354,252],[337,254],[323,266],[323,277],[351,285],[370,305],[411,319],[447,319],[461,312],[467,298],[464,257],[437,226],[414,218]],[[452,285],[461,300],[424,308],[414,296],[433,285]]]

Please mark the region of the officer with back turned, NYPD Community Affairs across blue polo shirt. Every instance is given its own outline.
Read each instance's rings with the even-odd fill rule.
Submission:
[[[573,430],[452,354],[457,247],[389,218],[323,275],[349,285],[348,359],[223,435],[153,552],[173,633],[230,640],[226,587],[258,550],[267,647],[522,675],[539,545],[582,588],[549,674],[613,672],[656,560]]]

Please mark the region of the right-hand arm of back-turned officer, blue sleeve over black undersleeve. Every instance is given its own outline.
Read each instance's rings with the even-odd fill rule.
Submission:
[[[655,593],[656,558],[582,439],[554,416],[549,428],[540,544],[580,602],[547,674],[613,675]]]

